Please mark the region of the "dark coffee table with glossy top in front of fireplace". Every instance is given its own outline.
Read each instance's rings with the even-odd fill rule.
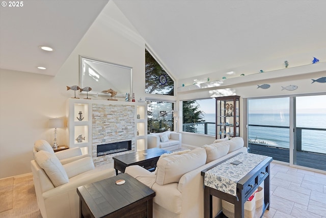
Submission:
[[[133,152],[113,157],[116,175],[118,171],[124,173],[127,166],[140,165],[149,171],[154,171],[158,158],[162,154],[171,153],[170,151],[153,148],[144,151]],[[147,155],[144,155],[147,154]]]

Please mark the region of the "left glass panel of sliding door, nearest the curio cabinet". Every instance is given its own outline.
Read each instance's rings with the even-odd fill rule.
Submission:
[[[248,146],[251,153],[289,162],[289,98],[248,101]]]

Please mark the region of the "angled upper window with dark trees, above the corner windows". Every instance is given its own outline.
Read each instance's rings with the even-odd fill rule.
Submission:
[[[174,81],[147,50],[145,50],[145,92],[174,95]]]

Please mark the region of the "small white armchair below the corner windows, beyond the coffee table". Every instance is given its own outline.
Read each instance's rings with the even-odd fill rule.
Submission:
[[[181,133],[166,131],[147,135],[147,148],[160,148],[168,151],[181,149]]]

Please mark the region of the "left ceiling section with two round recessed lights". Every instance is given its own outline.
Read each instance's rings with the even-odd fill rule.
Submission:
[[[108,0],[28,0],[0,7],[0,68],[56,75]],[[39,49],[53,47],[53,52]],[[47,69],[38,69],[44,66]]]

